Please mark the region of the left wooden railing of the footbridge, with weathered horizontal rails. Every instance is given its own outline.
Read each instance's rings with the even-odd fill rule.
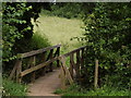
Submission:
[[[52,63],[57,61],[57,66],[59,66],[59,56],[60,56],[60,47],[61,45],[47,47],[39,50],[33,50],[31,52],[19,53],[15,65],[9,76],[10,79],[15,78],[17,83],[21,83],[23,76],[32,73],[31,82],[35,81],[36,71],[43,69],[43,73],[45,74],[46,70],[52,71]],[[56,52],[53,53],[56,49]],[[49,52],[49,54],[47,54]],[[36,57],[41,54],[40,61],[41,63],[36,65]],[[47,58],[46,58],[47,57]],[[28,58],[27,69],[23,69],[23,59]]]

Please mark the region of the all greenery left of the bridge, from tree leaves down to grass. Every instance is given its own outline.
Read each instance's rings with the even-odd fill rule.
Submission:
[[[49,46],[48,39],[34,34],[32,19],[36,21],[45,3],[3,2],[2,3],[2,71],[4,95],[25,95],[25,86],[7,81],[12,71],[16,54]],[[40,40],[40,42],[39,42]],[[13,88],[13,89],[12,89]],[[19,89],[20,88],[20,89]]]

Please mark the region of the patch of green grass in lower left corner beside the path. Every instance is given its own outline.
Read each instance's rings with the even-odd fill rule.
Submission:
[[[26,96],[27,86],[3,78],[3,96]]]

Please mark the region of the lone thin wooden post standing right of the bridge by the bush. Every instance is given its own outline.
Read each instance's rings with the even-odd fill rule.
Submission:
[[[94,77],[94,88],[98,87],[98,60],[95,61],[95,77]]]

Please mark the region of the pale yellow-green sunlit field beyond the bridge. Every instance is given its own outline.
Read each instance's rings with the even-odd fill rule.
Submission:
[[[40,14],[37,21],[38,26],[34,26],[34,32],[44,37],[46,36],[51,45],[61,44],[62,53],[81,46],[76,39],[71,40],[71,38],[82,36],[82,21],[47,16],[44,14]]]

